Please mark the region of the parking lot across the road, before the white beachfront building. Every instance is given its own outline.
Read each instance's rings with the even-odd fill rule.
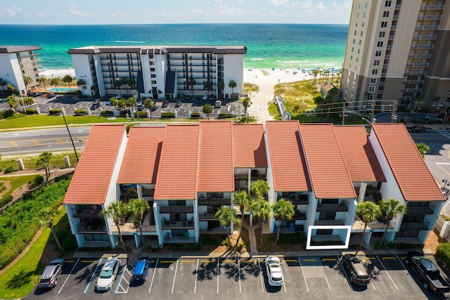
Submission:
[[[39,96],[34,97],[33,99],[34,104],[30,105],[29,107],[39,107],[41,114],[49,113],[50,109],[58,109],[63,107],[65,109],[65,112],[69,115],[75,114],[75,110],[87,110],[88,108],[91,108],[91,105],[94,101],[94,99],[78,99],[70,95],[58,95],[54,98],[43,98]],[[96,110],[91,110],[91,115],[100,115],[100,112],[102,110],[115,110],[114,106],[106,105],[108,100],[108,97],[102,98],[100,101],[100,107],[98,107]],[[239,105],[236,102],[231,103],[229,101],[222,100],[222,105],[219,108],[214,107],[215,100],[202,100],[202,96],[185,97],[181,99],[181,103],[179,103],[179,106],[177,105],[179,99],[169,100],[167,103],[167,107],[162,107],[162,103],[164,101],[165,100],[162,99],[155,100],[158,109],[152,112],[153,117],[159,117],[161,112],[176,111],[178,117],[187,118],[189,115],[189,111],[202,112],[203,105],[205,105],[205,103],[210,103],[210,105],[212,105],[213,107],[213,111],[210,114],[210,117],[212,118],[217,117],[219,113],[225,112],[233,112],[236,115],[243,115],[244,113],[243,106]],[[8,106],[8,103],[0,103],[0,110],[9,109],[10,108]]]

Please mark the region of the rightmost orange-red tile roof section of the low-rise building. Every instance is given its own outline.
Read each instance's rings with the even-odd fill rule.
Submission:
[[[373,124],[387,163],[406,201],[444,201],[404,124]]]

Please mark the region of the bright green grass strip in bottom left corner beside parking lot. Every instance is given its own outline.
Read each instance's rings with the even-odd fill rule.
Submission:
[[[55,223],[65,215],[65,208],[55,216]],[[0,299],[22,298],[30,294],[39,282],[44,264],[39,261],[51,235],[50,228],[44,228],[28,252],[11,268],[0,275]]]

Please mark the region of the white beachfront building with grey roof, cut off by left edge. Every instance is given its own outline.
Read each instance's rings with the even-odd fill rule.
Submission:
[[[42,67],[41,58],[36,51],[39,46],[0,46],[0,79],[6,84],[12,84],[21,96],[27,95],[27,90],[38,85],[39,69]],[[25,77],[31,81],[25,84]]]

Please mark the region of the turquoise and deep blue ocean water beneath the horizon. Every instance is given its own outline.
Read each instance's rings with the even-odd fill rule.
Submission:
[[[107,45],[245,45],[245,67],[342,67],[348,25],[0,25],[0,43],[37,45],[43,69],[71,68],[70,48]]]

